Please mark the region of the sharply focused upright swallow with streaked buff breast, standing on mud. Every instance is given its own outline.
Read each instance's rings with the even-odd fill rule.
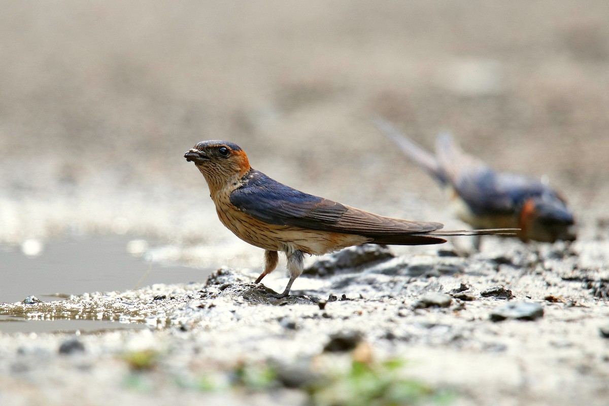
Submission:
[[[202,141],[185,153],[209,186],[222,224],[240,239],[264,249],[264,276],[277,266],[278,251],[287,257],[290,280],[303,272],[303,254],[322,255],[363,243],[420,245],[446,242],[443,236],[510,233],[510,229],[437,231],[441,223],[392,219],[309,195],[275,181],[250,163],[238,145]]]

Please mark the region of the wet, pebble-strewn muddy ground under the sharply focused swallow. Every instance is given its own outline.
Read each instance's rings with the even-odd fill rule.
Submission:
[[[221,268],[206,284],[7,304],[2,312],[13,315],[148,328],[2,334],[0,399],[333,404],[309,385],[333,385],[332,377],[348,374],[365,348],[369,362],[407,360],[401,379],[447,391],[456,404],[604,404],[609,309],[586,282],[590,270],[580,258],[606,256],[607,243],[595,253],[586,245],[538,251],[507,245],[513,250],[468,257],[348,249],[312,264],[309,271],[326,276],[303,276],[301,290],[284,299],[252,284],[252,273]],[[603,280],[608,276],[605,270]],[[335,396],[344,391],[331,388]]]

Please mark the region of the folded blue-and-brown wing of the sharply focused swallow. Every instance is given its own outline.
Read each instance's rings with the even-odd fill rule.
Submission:
[[[255,219],[332,233],[364,236],[425,233],[442,223],[383,217],[336,201],[309,195],[252,171],[244,185],[230,195],[231,203]]]

